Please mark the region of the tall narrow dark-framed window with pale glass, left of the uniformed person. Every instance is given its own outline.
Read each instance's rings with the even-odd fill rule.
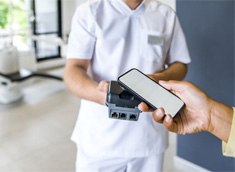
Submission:
[[[58,38],[62,37],[61,0],[32,0],[32,23],[37,61],[61,57]]]

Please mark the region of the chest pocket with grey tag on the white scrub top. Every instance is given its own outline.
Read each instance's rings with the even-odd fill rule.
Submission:
[[[165,59],[164,35],[156,31],[144,31],[144,54],[146,59],[150,61],[156,61],[157,63],[163,63]]]

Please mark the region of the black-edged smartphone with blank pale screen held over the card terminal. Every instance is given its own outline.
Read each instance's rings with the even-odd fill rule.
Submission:
[[[118,77],[118,82],[152,109],[162,107],[165,113],[172,117],[184,106],[184,102],[179,97],[138,69],[133,68],[122,74]]]

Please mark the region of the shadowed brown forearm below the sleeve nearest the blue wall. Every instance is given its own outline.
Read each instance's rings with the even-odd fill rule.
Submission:
[[[179,62],[175,62],[161,72],[152,75],[154,80],[182,80],[187,73],[187,65]]]

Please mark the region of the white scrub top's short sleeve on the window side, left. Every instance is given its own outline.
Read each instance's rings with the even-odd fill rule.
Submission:
[[[72,19],[67,58],[91,59],[95,42],[92,13],[89,6],[83,4],[77,8]]]

